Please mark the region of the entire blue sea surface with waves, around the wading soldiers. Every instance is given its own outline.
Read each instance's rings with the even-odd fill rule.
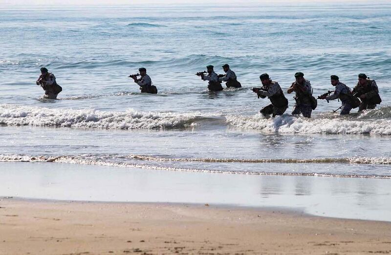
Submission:
[[[0,34],[1,161],[391,178],[391,3],[4,5]],[[225,63],[243,87],[208,92],[195,73]],[[35,85],[43,66],[59,100]],[[157,95],[127,78],[139,67]],[[316,96],[332,74],[353,88],[366,73],[383,101],[340,117],[319,100],[306,119],[286,95],[286,113],[263,118],[259,76],[286,91],[297,71]]]

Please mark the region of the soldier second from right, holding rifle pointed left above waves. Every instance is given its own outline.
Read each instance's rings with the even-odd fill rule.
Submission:
[[[336,75],[330,76],[331,85],[335,87],[334,94],[331,96],[322,95],[319,99],[326,99],[327,102],[339,98],[342,102],[341,115],[347,115],[353,108],[352,94],[350,88],[339,81]],[[357,107],[357,106],[356,106]]]

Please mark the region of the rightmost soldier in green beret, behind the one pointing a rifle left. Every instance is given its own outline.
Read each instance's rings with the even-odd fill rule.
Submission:
[[[353,88],[353,96],[361,99],[358,111],[374,109],[376,104],[381,103],[376,81],[369,79],[365,74],[358,75],[357,85]]]

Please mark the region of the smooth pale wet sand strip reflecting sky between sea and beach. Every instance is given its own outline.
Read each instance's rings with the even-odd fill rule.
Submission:
[[[59,201],[211,204],[391,222],[391,180],[220,175],[0,162],[0,196]],[[344,205],[344,206],[341,206]]]

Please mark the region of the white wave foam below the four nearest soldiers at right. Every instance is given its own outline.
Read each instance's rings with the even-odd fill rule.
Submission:
[[[391,135],[390,119],[303,118],[282,115],[276,118],[227,116],[227,122],[245,129],[260,129],[270,133],[378,134]]]

